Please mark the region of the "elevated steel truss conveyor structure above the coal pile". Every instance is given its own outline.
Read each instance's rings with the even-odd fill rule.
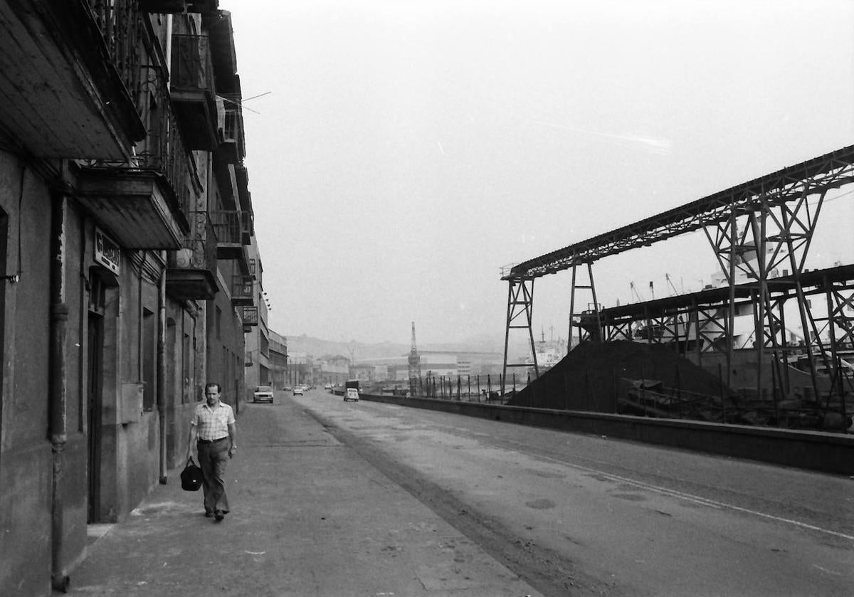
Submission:
[[[698,341],[698,346],[707,347],[698,349],[719,349],[727,352],[729,382],[736,299],[749,299],[746,302],[753,305],[754,339],[761,338],[761,341],[755,342],[760,368],[763,354],[773,352],[780,356],[791,348],[786,342],[782,306],[787,300],[794,299],[797,301],[800,324],[806,336],[806,348],[821,355],[828,371],[836,371],[839,368],[833,364],[839,362],[835,349],[839,340],[834,338],[834,333],[851,341],[851,319],[845,319],[840,313],[851,307],[851,288],[848,286],[848,280],[854,279],[854,272],[846,270],[845,275],[850,275],[850,278],[838,279],[834,284],[839,286],[834,287],[833,291],[827,290],[828,313],[831,314],[827,321],[822,321],[812,313],[805,298],[807,293],[804,291],[803,282],[804,262],[828,190],[851,182],[854,182],[854,145],[524,261],[502,272],[502,279],[511,285],[512,296],[514,286],[533,284],[535,278],[571,268],[573,284],[570,303],[574,304],[577,266],[587,266],[592,289],[592,264],[595,260],[702,229],[728,284],[727,288],[716,290],[724,290],[726,295],[719,296],[717,302],[711,303],[696,302],[696,296],[691,299],[695,302],[688,301],[687,296],[675,297],[678,300],[671,307],[670,313],[654,315],[644,313],[643,307],[639,311],[640,306],[633,305],[631,307],[635,308],[623,313],[624,319],[621,320],[603,317],[594,300],[595,330],[602,332],[601,326],[605,326],[604,333],[597,336],[605,339],[629,337],[633,323],[646,321],[647,329],[658,331],[659,339],[687,339],[688,330],[693,325],[695,337],[705,340]],[[780,276],[779,270],[784,265],[791,273],[784,270],[784,275]],[[745,278],[749,284],[739,284],[740,277]],[[811,280],[811,284],[813,288],[810,294],[826,290],[823,283],[816,284],[815,280]],[[697,294],[703,293],[695,293]],[[533,296],[530,301],[533,301]],[[644,304],[648,310],[658,302],[650,301]],[[508,332],[510,307],[508,299]],[[530,313],[532,305],[527,307]],[[623,307],[609,310],[610,314],[616,314],[621,308]],[[721,309],[725,310],[723,318]],[[579,319],[576,325],[581,325],[590,336],[591,313],[586,315],[586,318],[576,318]],[[575,313],[571,313],[570,326],[574,317]],[[701,322],[704,324],[700,325]],[[716,326],[717,330],[714,329]],[[825,330],[831,334],[829,346],[825,346],[820,336]],[[845,331],[844,334],[842,330]],[[806,331],[811,333],[807,334]],[[530,329],[529,337],[533,338]],[[654,341],[654,338],[650,340]],[[533,342],[531,350],[534,351]],[[775,362],[779,363],[780,360],[776,359]],[[761,373],[761,370],[758,373]],[[810,373],[817,392],[816,371],[812,360]],[[757,391],[761,393],[762,376],[757,374],[757,379],[760,380]],[[782,381],[783,378],[776,379]],[[842,384],[839,383],[840,394],[841,387]]]

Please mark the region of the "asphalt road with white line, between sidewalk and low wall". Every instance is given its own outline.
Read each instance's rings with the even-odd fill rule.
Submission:
[[[323,390],[293,400],[543,594],[852,594],[850,478]]]

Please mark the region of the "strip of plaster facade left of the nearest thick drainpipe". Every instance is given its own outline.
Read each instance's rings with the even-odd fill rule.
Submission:
[[[0,269],[3,275],[19,272],[20,255],[21,270],[18,282],[0,281],[0,593],[15,579],[19,594],[44,594],[50,588],[53,460],[47,435],[50,192],[25,164],[0,150]],[[19,236],[19,230],[44,234]]]

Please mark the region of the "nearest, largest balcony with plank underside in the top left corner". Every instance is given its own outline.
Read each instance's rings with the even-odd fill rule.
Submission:
[[[0,0],[0,126],[27,153],[125,160],[144,138],[135,6]]]

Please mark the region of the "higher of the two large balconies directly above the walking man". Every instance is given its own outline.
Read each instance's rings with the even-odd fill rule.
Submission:
[[[208,38],[172,36],[172,100],[190,149],[217,148],[217,110]]]

